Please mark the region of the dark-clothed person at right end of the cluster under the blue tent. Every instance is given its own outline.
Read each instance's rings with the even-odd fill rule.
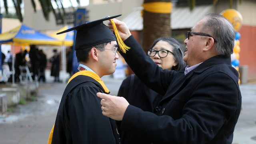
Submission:
[[[47,59],[43,50],[39,50],[39,54],[40,54],[40,65],[39,65],[38,81],[40,82],[42,80],[42,82],[45,82],[45,68],[46,68]]]

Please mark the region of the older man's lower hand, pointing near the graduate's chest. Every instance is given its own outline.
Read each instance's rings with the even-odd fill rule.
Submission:
[[[97,93],[97,96],[102,98],[100,104],[102,105],[101,110],[104,116],[108,116],[114,120],[123,119],[124,112],[129,105],[125,98],[100,92]]]

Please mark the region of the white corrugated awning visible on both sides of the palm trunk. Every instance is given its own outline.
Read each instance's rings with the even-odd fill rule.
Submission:
[[[129,30],[142,30],[143,18],[141,10],[143,8],[134,8],[134,10],[126,16],[122,21],[126,23]],[[193,11],[188,7],[173,7],[171,14],[171,28],[184,29],[192,28],[201,19],[201,16],[214,12],[214,5],[196,6]]]

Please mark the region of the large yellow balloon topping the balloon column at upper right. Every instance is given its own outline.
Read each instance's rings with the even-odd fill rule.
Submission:
[[[222,16],[224,16],[225,18],[227,18],[233,24],[236,32],[238,32],[240,30],[240,28],[242,27],[242,22],[243,22],[243,18],[242,18],[242,15],[240,14],[240,12],[238,12],[237,10],[234,10],[234,9],[226,9],[226,10],[223,10],[222,12],[220,12],[220,14]]]

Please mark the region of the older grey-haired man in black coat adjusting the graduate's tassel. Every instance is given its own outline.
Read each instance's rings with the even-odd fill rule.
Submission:
[[[242,98],[238,71],[231,65],[235,30],[229,20],[206,14],[188,31],[183,57],[187,66],[178,72],[157,66],[126,24],[114,22],[124,44],[132,48],[120,54],[144,84],[164,97],[152,113],[125,98],[97,93],[102,114],[122,120],[120,130],[155,144],[232,144]]]

